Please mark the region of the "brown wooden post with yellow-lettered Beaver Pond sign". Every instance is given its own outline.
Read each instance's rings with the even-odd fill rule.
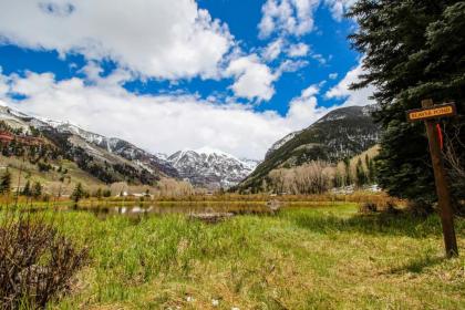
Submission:
[[[451,193],[447,186],[446,173],[441,153],[441,133],[435,118],[456,115],[456,110],[453,103],[433,105],[432,100],[423,100],[422,106],[423,108],[407,111],[407,120],[409,122],[425,122],[430,143],[431,161],[433,163],[434,179],[436,184],[437,204],[443,226],[445,250],[447,258],[451,258],[458,256],[458,248],[454,230],[454,215],[452,210]]]

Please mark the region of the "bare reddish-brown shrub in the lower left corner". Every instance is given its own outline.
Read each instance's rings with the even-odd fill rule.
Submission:
[[[0,227],[0,309],[44,308],[86,259],[86,248],[76,249],[42,217],[8,213]]]

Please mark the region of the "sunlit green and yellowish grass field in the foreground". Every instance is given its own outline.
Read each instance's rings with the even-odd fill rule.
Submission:
[[[91,262],[53,309],[465,309],[464,219],[452,260],[436,216],[360,216],[356,204],[216,225],[76,211],[55,220]]]

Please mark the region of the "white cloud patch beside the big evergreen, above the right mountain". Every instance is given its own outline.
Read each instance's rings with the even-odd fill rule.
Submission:
[[[353,83],[359,82],[359,75],[363,74],[362,60],[360,63],[350,70],[345,76],[332,89],[330,89],[324,96],[327,99],[344,99],[344,105],[366,105],[374,103],[369,97],[373,95],[374,86],[369,85],[364,89],[351,91],[349,86]]]

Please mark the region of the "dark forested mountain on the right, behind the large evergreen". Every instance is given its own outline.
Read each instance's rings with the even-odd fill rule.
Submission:
[[[348,106],[331,111],[309,127],[276,142],[238,188],[259,188],[276,168],[300,166],[311,161],[337,163],[360,154],[379,141],[380,126],[371,116],[375,105]]]

